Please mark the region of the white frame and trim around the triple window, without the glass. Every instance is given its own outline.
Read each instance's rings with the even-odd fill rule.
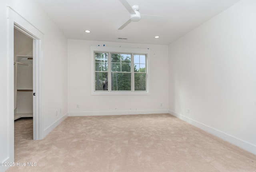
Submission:
[[[91,51],[91,95],[150,95],[150,50],[146,48],[126,48],[126,47],[108,47],[108,46],[90,46]],[[94,77],[94,52],[111,52],[124,54],[146,54],[146,91],[95,91]],[[133,58],[132,58],[133,59]],[[110,67],[110,61],[108,61]],[[132,61],[133,64],[133,61]],[[133,69],[133,68],[132,68]],[[131,71],[132,71],[131,69]],[[109,73],[111,74],[111,72]],[[134,72],[132,72],[132,88],[134,87]]]

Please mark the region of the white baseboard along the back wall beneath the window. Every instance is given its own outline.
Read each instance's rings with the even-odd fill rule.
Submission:
[[[102,115],[139,115],[139,114],[159,114],[168,113],[167,109],[164,110],[138,110],[138,111],[90,111],[90,112],[69,112],[69,117],[76,116],[102,116]]]

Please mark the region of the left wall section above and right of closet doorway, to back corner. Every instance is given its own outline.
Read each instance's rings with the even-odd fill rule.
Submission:
[[[68,112],[67,39],[35,2],[10,0],[8,5],[44,34],[41,113],[42,136],[45,136],[46,129]]]

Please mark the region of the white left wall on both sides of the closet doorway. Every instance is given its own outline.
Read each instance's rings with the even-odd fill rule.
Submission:
[[[60,121],[68,115],[68,73],[67,73],[67,39],[48,16],[33,0],[1,0],[0,1],[0,162],[14,161],[13,114],[8,107],[13,107],[13,97],[8,90],[13,90],[13,69],[8,67],[8,24],[7,6],[42,32],[41,59],[41,122],[42,137],[48,134]],[[12,43],[13,40],[10,40]],[[13,59],[13,57],[12,57]],[[10,66],[10,65],[9,65]],[[8,85],[10,83],[10,85]],[[7,90],[7,91],[3,91]],[[62,112],[60,113],[60,109]],[[58,115],[56,116],[56,111]],[[5,167],[0,167],[4,171]]]

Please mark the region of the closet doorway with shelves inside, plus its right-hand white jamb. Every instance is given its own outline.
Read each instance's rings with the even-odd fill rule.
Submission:
[[[41,139],[40,47],[38,37],[14,23],[14,120],[33,119],[33,140]]]

